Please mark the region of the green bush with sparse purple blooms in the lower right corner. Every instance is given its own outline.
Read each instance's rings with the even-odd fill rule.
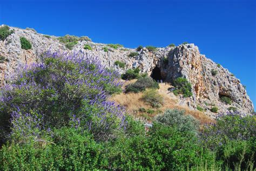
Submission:
[[[223,161],[223,166],[248,170],[255,165],[255,130],[255,115],[241,117],[237,112],[227,113],[218,117],[214,125],[205,126],[200,138],[217,152],[217,160]]]

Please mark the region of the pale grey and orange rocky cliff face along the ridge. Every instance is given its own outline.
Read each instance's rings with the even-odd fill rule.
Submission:
[[[104,65],[123,73],[132,67],[139,67],[142,72],[149,75],[152,72],[158,75],[159,79],[167,82],[178,77],[186,77],[192,84],[193,97],[180,100],[180,105],[188,105],[191,108],[201,106],[206,108],[206,113],[214,115],[209,110],[215,105],[219,108],[219,113],[227,112],[228,107],[237,107],[242,113],[252,113],[253,104],[240,80],[222,66],[218,66],[212,60],[200,54],[198,47],[194,44],[179,45],[176,47],[158,48],[150,52],[143,48],[136,57],[129,57],[136,49],[119,47],[117,50],[109,48],[104,51],[106,44],[93,42],[78,42],[73,50],[66,49],[65,45],[59,42],[57,37],[45,37],[32,30],[10,28],[14,30],[6,40],[0,40],[0,56],[6,58],[0,63],[0,85],[5,84],[5,79],[17,72],[21,64],[31,64],[39,60],[39,56],[46,50],[51,51],[80,51],[85,56],[97,57]],[[31,50],[23,50],[19,37],[25,37],[32,44]],[[89,44],[92,50],[84,50],[85,44]],[[168,60],[164,60],[167,58]],[[125,69],[120,69],[114,65],[114,61],[123,61]],[[212,72],[215,72],[215,76]],[[220,101],[220,97],[232,99],[232,105],[227,105]]]

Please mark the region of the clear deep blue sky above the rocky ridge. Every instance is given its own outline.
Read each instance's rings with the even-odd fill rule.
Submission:
[[[3,1],[0,24],[94,42],[167,46],[194,43],[246,85],[256,105],[254,0]]]

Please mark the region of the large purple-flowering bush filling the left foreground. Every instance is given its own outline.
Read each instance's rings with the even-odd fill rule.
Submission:
[[[125,126],[124,109],[106,101],[121,91],[119,78],[116,71],[82,53],[46,52],[42,63],[23,67],[3,88],[2,134],[39,136],[76,120],[75,127],[89,129],[95,138],[107,137]]]

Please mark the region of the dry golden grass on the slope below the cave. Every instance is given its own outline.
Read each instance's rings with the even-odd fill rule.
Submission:
[[[127,81],[125,85],[129,83],[134,83],[136,80]],[[116,101],[118,104],[125,106],[127,111],[136,117],[147,117],[148,120],[152,120],[152,118],[160,113],[163,113],[167,109],[174,109],[177,108],[179,110],[184,110],[186,114],[191,114],[194,118],[198,119],[201,124],[206,124],[209,122],[214,122],[213,119],[205,115],[203,112],[200,112],[198,110],[191,110],[187,106],[180,106],[178,104],[178,97],[173,95],[173,93],[169,93],[167,91],[167,88],[171,87],[169,84],[159,84],[160,88],[158,90],[158,93],[164,97],[164,105],[161,106],[159,109],[154,109],[153,114],[148,114],[145,112],[139,112],[139,108],[145,108],[145,109],[152,109],[150,105],[145,104],[141,98],[143,93],[121,93],[114,95],[109,98],[111,101]]]

